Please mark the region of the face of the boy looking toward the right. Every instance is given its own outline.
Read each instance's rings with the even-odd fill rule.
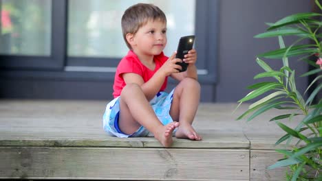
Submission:
[[[167,24],[160,20],[148,20],[138,29],[130,44],[136,53],[159,55],[167,45]]]

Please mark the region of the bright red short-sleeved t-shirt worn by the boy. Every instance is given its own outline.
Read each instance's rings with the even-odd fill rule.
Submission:
[[[140,75],[144,82],[147,82],[151,79],[155,72],[157,72],[162,64],[168,60],[167,56],[164,56],[164,53],[160,53],[158,56],[154,56],[155,69],[152,71],[147,68],[140,62],[138,56],[133,51],[129,51],[127,56],[120,60],[118,67],[116,69],[115,77],[114,77],[114,98],[118,97],[122,91],[122,88],[126,85],[125,81],[122,77],[122,73],[136,73]],[[164,82],[160,88],[160,91],[163,91],[167,88],[168,77],[165,77]]]

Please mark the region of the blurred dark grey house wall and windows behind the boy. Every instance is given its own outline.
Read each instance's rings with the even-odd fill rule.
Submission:
[[[0,98],[112,99],[116,66],[128,51],[120,19],[135,3],[153,3],[166,14],[167,56],[181,36],[195,34],[203,102],[244,97],[262,72],[256,56],[279,48],[277,38],[253,36],[266,31],[265,23],[314,10],[313,1],[303,0],[2,0]],[[310,77],[299,75],[308,64],[294,58],[290,67],[303,92]]]

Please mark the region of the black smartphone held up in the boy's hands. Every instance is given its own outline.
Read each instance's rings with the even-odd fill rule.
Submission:
[[[193,43],[195,43],[195,36],[182,36],[179,40],[177,54],[175,55],[175,58],[180,58],[181,60],[184,59],[184,55],[188,53],[189,50],[193,49]],[[180,64],[182,69],[179,70],[180,72],[186,71],[188,68],[188,65],[186,62],[177,62],[176,64]]]

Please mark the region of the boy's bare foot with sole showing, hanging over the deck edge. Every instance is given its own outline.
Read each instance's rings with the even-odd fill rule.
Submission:
[[[170,147],[173,143],[172,132],[175,130],[175,128],[178,128],[178,126],[178,122],[172,122],[164,125],[162,130],[160,130],[157,134],[154,134],[154,136],[164,147]]]

